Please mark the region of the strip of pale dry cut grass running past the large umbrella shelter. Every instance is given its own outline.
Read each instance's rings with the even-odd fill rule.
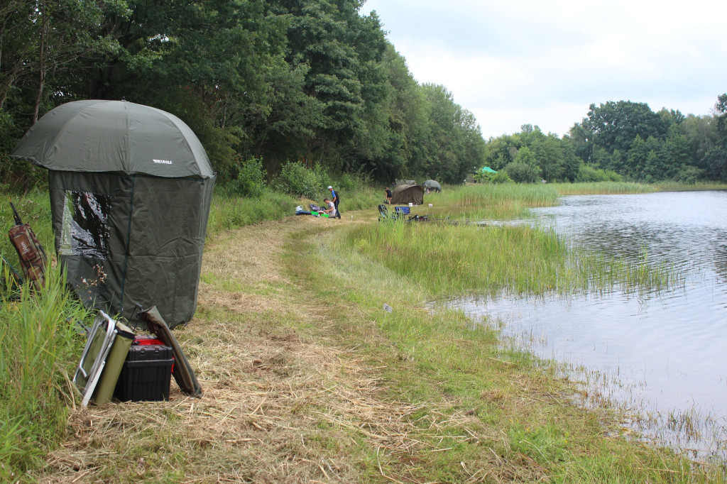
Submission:
[[[417,406],[387,400],[380,368],[329,337],[330,304],[286,277],[286,239],[318,222],[296,217],[210,243],[196,318],[174,330],[203,398],[172,379],[166,402],[73,408],[67,439],[34,477],[295,483],[369,472],[418,482],[411,456],[421,443],[408,437]],[[386,475],[386,461],[401,463],[399,477]]]

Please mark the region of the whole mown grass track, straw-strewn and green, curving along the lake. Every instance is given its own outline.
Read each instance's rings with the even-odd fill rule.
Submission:
[[[350,214],[347,214],[350,216]],[[175,329],[204,397],[74,408],[44,482],[680,482],[688,461],[493,331],[336,241],[353,220],[289,217],[208,243],[196,317]],[[395,311],[382,311],[381,302]],[[703,476],[697,475],[696,480]]]

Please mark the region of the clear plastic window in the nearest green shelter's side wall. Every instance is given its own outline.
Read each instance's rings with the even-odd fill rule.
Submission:
[[[66,190],[61,255],[108,258],[111,197],[99,193]]]

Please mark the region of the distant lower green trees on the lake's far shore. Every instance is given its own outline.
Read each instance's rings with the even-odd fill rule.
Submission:
[[[655,113],[644,102],[592,104],[563,137],[526,124],[491,138],[485,164],[515,181],[727,182],[727,94],[709,116]]]

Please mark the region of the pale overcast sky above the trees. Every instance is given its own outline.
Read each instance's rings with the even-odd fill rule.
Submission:
[[[443,84],[487,139],[562,136],[595,102],[705,115],[727,92],[727,0],[367,0],[420,83]]]

